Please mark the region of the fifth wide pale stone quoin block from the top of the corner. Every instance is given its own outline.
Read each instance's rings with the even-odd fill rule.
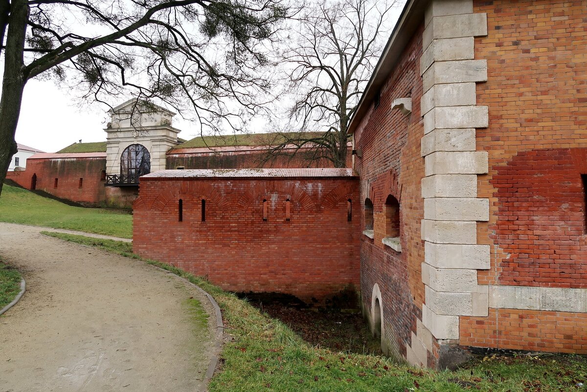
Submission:
[[[489,199],[424,199],[424,219],[433,221],[488,221]]]

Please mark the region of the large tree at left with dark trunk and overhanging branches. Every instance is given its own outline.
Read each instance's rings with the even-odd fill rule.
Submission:
[[[239,129],[268,92],[256,68],[288,12],[282,1],[0,0],[0,193],[33,77],[106,104],[132,93],[187,106],[203,127]]]

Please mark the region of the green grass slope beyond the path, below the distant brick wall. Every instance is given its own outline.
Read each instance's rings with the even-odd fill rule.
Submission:
[[[4,184],[0,221],[132,238],[133,217],[99,208],[72,207]]]

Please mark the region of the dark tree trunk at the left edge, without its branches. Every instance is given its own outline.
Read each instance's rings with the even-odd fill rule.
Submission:
[[[28,14],[29,7],[26,0],[12,2],[4,51],[4,78],[0,99],[0,195],[12,156],[18,151],[14,134],[21,113],[22,92],[26,83],[26,75],[23,75],[23,49]]]

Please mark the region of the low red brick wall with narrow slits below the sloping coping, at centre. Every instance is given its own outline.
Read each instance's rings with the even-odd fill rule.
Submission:
[[[207,276],[226,290],[289,293],[323,305],[359,285],[357,199],[356,179],[149,178],[141,181],[133,206],[133,249]]]

